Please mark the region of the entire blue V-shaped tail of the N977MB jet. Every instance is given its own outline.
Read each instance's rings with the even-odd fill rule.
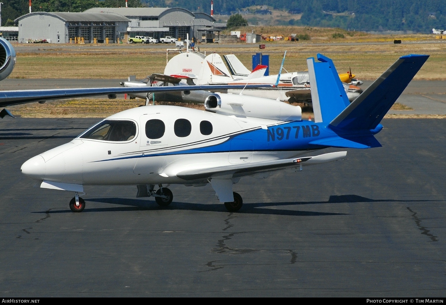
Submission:
[[[380,121],[428,57],[402,56],[351,104],[333,62],[320,54],[321,63],[307,59],[315,121],[331,120],[327,127],[334,131],[332,137],[315,139],[310,144],[352,148],[381,146],[373,136],[383,127]]]

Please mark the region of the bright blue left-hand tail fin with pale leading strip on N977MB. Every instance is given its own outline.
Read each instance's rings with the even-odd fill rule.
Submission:
[[[307,59],[314,121],[328,123],[350,102],[333,61],[322,54],[318,54],[318,60],[315,63],[314,58]]]

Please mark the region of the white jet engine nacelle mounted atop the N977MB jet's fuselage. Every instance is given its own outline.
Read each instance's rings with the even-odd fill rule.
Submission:
[[[206,97],[207,111],[235,115],[237,117],[259,117],[273,120],[302,119],[300,106],[293,106],[278,100],[231,93],[214,93]]]

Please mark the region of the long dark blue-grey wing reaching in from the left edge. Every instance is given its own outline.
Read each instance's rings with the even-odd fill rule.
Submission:
[[[175,92],[193,90],[224,90],[272,87],[265,84],[257,85],[197,85],[197,86],[162,86],[162,87],[111,87],[111,88],[66,88],[66,89],[39,89],[39,90],[10,90],[0,91],[0,107],[46,100],[62,100],[87,96],[109,96],[115,98],[116,94],[141,92]]]

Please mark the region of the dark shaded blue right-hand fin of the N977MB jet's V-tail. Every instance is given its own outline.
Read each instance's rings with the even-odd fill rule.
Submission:
[[[335,130],[375,130],[429,55],[400,57],[370,87],[347,106],[329,127]]]

